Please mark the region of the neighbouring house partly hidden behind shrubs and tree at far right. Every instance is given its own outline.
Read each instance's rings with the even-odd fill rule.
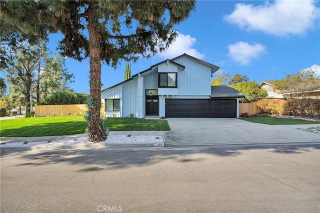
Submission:
[[[279,93],[274,85],[272,84],[272,81],[270,80],[264,80],[260,83],[261,88],[265,89],[268,92],[268,98],[289,98],[290,96],[294,96],[293,92],[291,93]],[[306,95],[306,97],[309,98],[320,98],[320,87],[313,89],[312,91],[309,91]]]

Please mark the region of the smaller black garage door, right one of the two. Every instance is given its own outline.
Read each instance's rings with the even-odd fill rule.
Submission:
[[[236,99],[210,99],[210,117],[236,117]]]

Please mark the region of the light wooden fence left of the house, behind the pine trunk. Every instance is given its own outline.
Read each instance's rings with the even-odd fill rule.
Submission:
[[[34,116],[47,115],[84,115],[87,110],[86,104],[68,104],[68,105],[36,105]],[[104,112],[104,104],[101,104],[100,113]]]

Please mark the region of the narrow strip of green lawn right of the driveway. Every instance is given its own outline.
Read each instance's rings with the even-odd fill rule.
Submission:
[[[299,120],[299,119],[289,119],[289,118],[276,118],[276,117],[263,117],[263,116],[251,116],[239,118],[242,120],[263,123],[269,125],[283,125],[283,124],[319,124],[318,122]]]

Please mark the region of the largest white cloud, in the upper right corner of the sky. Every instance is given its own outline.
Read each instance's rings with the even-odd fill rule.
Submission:
[[[269,34],[303,34],[319,16],[314,0],[276,0],[263,5],[237,3],[224,20],[249,30]]]

